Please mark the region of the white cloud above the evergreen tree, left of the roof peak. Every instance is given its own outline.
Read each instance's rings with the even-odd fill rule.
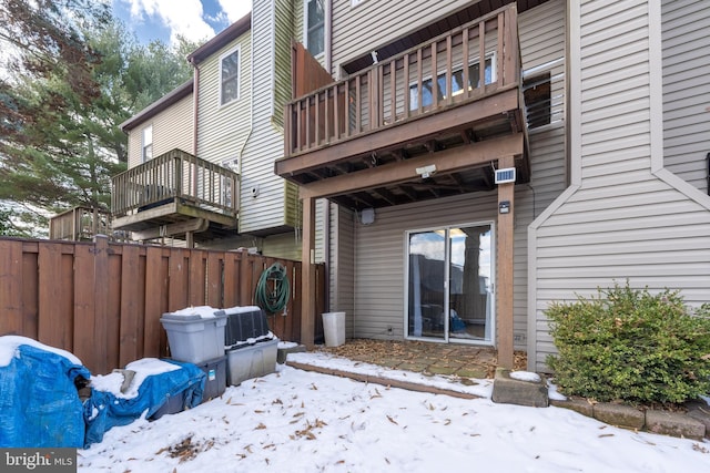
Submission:
[[[204,11],[200,0],[125,1],[131,6],[133,20],[142,22],[145,17],[159,18],[170,29],[171,42],[174,42],[179,34],[193,41],[209,39],[215,34],[203,19]]]

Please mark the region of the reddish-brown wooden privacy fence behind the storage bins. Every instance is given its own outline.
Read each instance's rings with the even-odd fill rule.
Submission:
[[[270,328],[281,340],[300,341],[301,261],[112,244],[103,236],[94,243],[0,238],[0,336],[68,350],[97,374],[141,358],[169,357],[164,312],[252,306],[258,278],[276,261],[286,268],[291,297],[285,316],[268,317]],[[321,312],[322,265],[316,275]]]

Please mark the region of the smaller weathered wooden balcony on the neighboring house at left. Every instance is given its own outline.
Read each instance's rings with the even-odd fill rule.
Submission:
[[[173,150],[113,177],[113,228],[133,239],[212,239],[236,228],[239,175]]]

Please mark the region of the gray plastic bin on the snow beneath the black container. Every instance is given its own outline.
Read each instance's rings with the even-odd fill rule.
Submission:
[[[237,385],[247,379],[276,371],[277,348],[278,339],[274,338],[227,350],[227,382],[230,385]]]

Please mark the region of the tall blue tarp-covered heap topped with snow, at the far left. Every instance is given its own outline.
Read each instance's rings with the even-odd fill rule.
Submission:
[[[83,446],[74,381],[90,376],[64,350],[26,337],[0,337],[0,448]]]

